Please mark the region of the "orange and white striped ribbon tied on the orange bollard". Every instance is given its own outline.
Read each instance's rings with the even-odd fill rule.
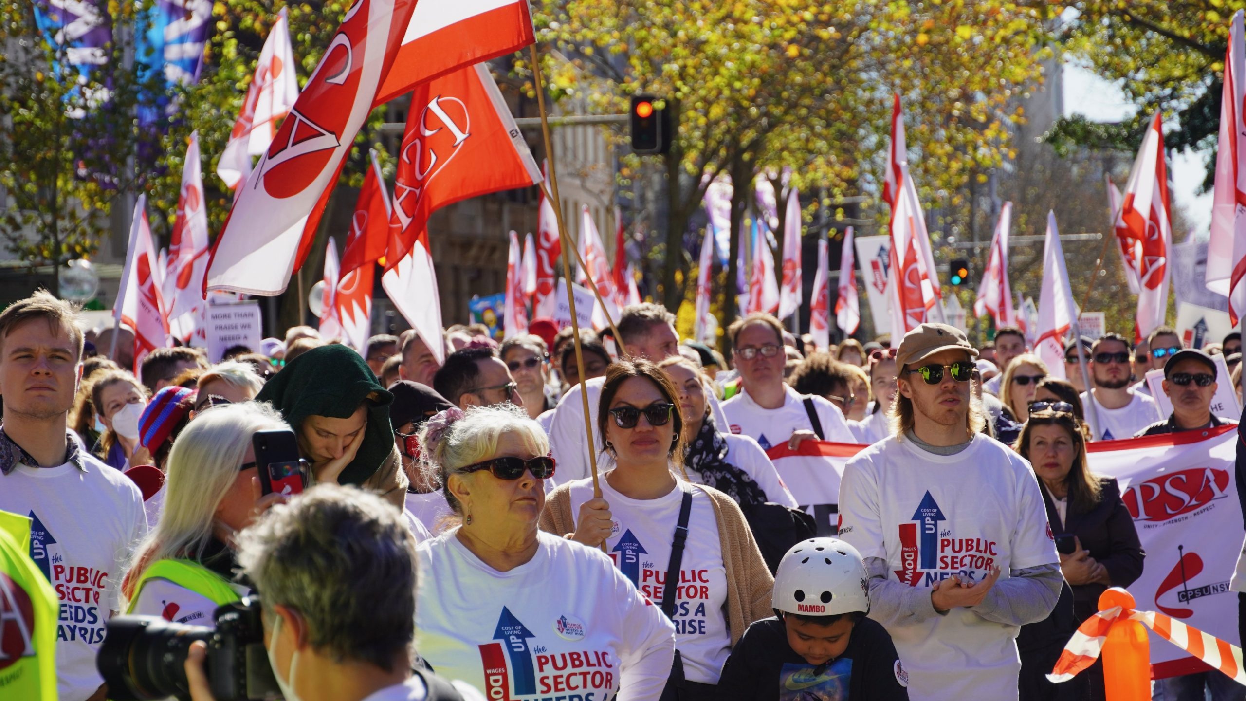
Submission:
[[[1124,610],[1113,606],[1087,619],[1069,639],[1055,661],[1055,669],[1047,675],[1053,682],[1068,681],[1078,672],[1089,667],[1099,659],[1108,629],[1121,617],[1135,620],[1151,629],[1156,635],[1202,660],[1211,669],[1220,670],[1226,676],[1246,686],[1246,672],[1242,671],[1242,650],[1224,640],[1207,635],[1201,630],[1175,621],[1164,614],[1154,611]]]

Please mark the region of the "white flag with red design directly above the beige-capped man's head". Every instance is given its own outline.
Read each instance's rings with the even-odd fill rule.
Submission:
[[[900,170],[900,192],[891,216],[891,264],[887,268],[887,287],[895,291],[891,297],[892,338],[903,338],[928,321],[943,321],[926,215],[908,176],[908,165],[902,163]],[[931,309],[934,309],[933,317]]]

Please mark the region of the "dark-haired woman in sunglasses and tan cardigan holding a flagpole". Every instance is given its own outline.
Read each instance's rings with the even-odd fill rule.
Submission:
[[[616,460],[602,475],[602,498],[592,480],[567,483],[551,493],[541,528],[604,545],[674,621],[679,656],[663,699],[715,699],[731,646],[771,615],[770,570],[739,505],[677,476],[692,437],[667,373],[647,360],[611,365],[598,428]]]

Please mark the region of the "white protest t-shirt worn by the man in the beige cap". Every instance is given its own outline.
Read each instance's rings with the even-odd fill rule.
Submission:
[[[866,448],[844,469],[840,514],[839,538],[910,586],[1059,561],[1029,463],[981,433],[954,455],[895,437]],[[913,699],[948,701],[1015,699],[1019,630],[973,609],[887,627]]]

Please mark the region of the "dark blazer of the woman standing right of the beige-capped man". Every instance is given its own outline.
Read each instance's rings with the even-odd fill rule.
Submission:
[[[1043,503],[1047,506],[1047,521],[1052,533],[1060,535],[1070,533],[1082,541],[1082,548],[1090,551],[1095,561],[1108,568],[1113,586],[1129,586],[1143,574],[1143,559],[1146,553],[1138,540],[1134,518],[1120,499],[1120,486],[1114,478],[1100,478],[1101,499],[1089,513],[1078,514],[1069,504],[1065,523],[1060,523],[1052,495],[1047,485],[1039,480],[1043,490]],[[1099,595],[1108,587],[1101,584],[1080,584],[1073,586],[1073,609],[1079,621],[1090,617],[1099,610]]]

